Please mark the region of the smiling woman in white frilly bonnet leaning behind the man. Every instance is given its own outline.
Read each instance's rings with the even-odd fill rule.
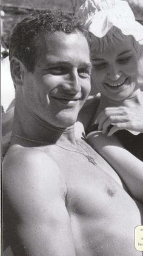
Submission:
[[[101,93],[87,141],[142,201],[143,94],[138,77],[143,27],[121,0],[87,0],[78,15],[91,32],[91,94]]]

